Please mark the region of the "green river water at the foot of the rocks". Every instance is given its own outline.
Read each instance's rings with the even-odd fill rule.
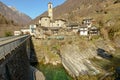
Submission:
[[[73,80],[65,71],[62,65],[38,64],[36,68],[43,72],[46,80]]]

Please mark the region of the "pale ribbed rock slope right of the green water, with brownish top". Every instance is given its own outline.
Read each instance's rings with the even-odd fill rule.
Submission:
[[[82,44],[83,43],[83,44]],[[97,67],[90,59],[102,59],[97,55],[97,49],[105,49],[110,53],[114,53],[115,49],[111,43],[104,40],[96,40],[93,42],[82,41],[82,43],[63,45],[60,49],[60,57],[65,69],[73,77],[80,75],[97,75],[100,73],[100,68]]]

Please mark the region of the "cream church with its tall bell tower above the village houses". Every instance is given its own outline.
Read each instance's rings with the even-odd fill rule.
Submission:
[[[65,20],[63,19],[53,19],[53,5],[51,2],[48,3],[48,16],[42,16],[39,20],[39,25],[41,27],[65,27]]]

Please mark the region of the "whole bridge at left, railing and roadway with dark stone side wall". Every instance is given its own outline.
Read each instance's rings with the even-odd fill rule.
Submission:
[[[0,38],[0,80],[31,79],[31,36]]]

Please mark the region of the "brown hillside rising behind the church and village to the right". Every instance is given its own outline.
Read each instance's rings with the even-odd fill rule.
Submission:
[[[54,5],[54,4],[53,4]],[[53,9],[54,19],[62,18],[69,23],[80,23],[83,18],[93,18],[105,39],[120,36],[120,0],[66,0]],[[41,16],[34,19],[38,23]]]

